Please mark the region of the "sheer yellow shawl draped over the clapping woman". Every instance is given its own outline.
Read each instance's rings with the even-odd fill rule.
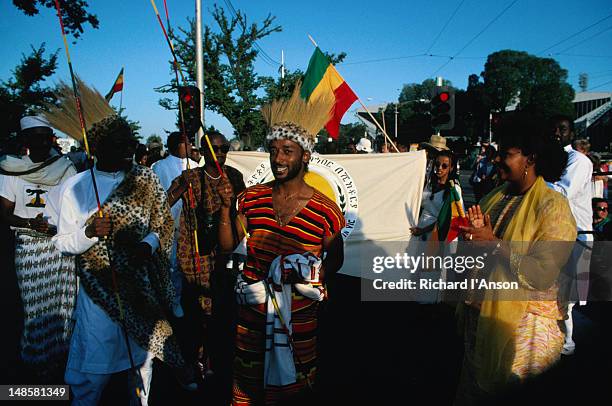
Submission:
[[[497,187],[485,196],[481,204],[483,213],[489,213],[503,198],[506,187]],[[513,255],[525,256],[534,256],[530,248],[533,248],[536,241],[575,239],[576,223],[567,199],[550,189],[542,177],[538,177],[527,191],[502,236],[503,241],[512,241]],[[560,251],[557,249],[535,254],[537,261],[549,274],[547,277],[556,279],[567,262],[570,253]],[[505,264],[498,264],[489,278],[492,281],[511,279]],[[526,293],[528,288],[523,284],[520,286]],[[479,386],[487,392],[495,391],[508,382],[514,358],[514,333],[529,304],[528,301],[495,299],[495,291],[486,293],[476,333],[475,355],[479,365],[476,377]]]

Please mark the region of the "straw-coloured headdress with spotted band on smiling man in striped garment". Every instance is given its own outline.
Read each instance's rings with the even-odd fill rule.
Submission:
[[[288,139],[298,143],[304,150],[312,151],[317,133],[332,115],[335,100],[322,95],[315,100],[304,100],[300,96],[301,82],[295,85],[289,99],[274,100],[262,106],[261,113],[269,127],[266,140]]]

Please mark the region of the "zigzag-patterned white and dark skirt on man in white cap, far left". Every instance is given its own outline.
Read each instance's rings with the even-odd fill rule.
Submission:
[[[51,237],[17,231],[15,272],[24,309],[21,358],[41,382],[61,383],[77,293],[74,257],[56,250]]]

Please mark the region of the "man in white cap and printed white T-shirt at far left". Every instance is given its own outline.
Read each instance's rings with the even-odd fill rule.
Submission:
[[[21,119],[29,150],[0,158],[0,217],[15,231],[15,273],[24,310],[20,357],[32,383],[60,383],[76,299],[74,258],[51,241],[63,183],[74,165],[53,148],[53,130],[40,116]]]

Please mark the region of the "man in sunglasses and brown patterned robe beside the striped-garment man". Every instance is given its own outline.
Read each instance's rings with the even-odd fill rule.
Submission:
[[[183,172],[174,179],[168,190],[171,206],[179,200],[183,201],[177,237],[177,262],[183,276],[182,305],[185,311],[182,320],[185,326],[183,351],[187,361],[199,367],[202,378],[211,373],[210,365],[216,365],[217,371],[230,371],[228,365],[232,359],[231,354],[225,353],[227,343],[233,342],[229,313],[234,303],[234,282],[225,269],[228,256],[217,253],[217,230],[222,202],[216,190],[224,176],[228,178],[234,190],[242,191],[246,188],[242,173],[225,165],[230,150],[225,136],[219,132],[208,132],[208,137],[223,173],[219,173],[213,154],[207,142],[202,139],[200,151],[204,156],[204,166]],[[190,186],[193,192],[193,209],[189,201]],[[196,226],[199,270],[194,260],[193,231]],[[210,363],[208,355],[215,357]],[[228,367],[220,367],[220,364]],[[231,375],[227,377],[227,380],[230,379]]]

